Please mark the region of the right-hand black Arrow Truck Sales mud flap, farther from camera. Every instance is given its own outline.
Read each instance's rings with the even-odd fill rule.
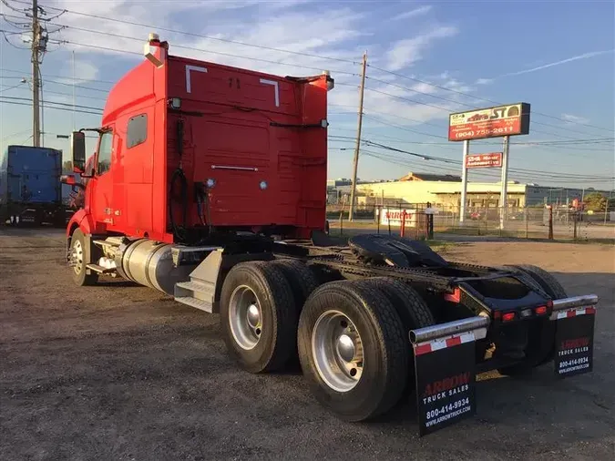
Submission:
[[[554,302],[551,314],[551,321],[556,322],[554,373],[559,378],[589,373],[593,370],[595,302],[556,310],[558,307]]]

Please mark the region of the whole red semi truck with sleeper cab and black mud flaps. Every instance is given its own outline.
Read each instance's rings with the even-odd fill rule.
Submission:
[[[569,297],[536,266],[446,261],[418,241],[331,241],[328,72],[278,77],[170,56],[154,34],[144,56],[91,128],[88,168],[86,129],[72,135],[87,179],[67,225],[77,285],[123,277],[219,313],[243,369],[298,356],[316,400],[346,420],[414,394],[422,435],[475,414],[482,371],[591,370],[595,295]]]

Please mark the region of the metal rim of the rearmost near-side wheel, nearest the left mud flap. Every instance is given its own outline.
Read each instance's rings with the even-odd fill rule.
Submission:
[[[323,312],[316,320],[312,356],[321,379],[337,392],[349,392],[361,380],[363,342],[354,323],[342,312]]]

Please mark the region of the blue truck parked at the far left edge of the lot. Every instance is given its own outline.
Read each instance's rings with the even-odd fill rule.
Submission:
[[[61,150],[8,146],[0,157],[0,223],[64,225],[71,211],[61,174]]]

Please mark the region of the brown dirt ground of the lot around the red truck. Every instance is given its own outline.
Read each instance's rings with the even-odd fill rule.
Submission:
[[[615,248],[469,242],[451,260],[533,263],[596,293],[592,374],[481,375],[477,415],[419,439],[413,405],[346,424],[300,371],[231,363],[219,319],[148,288],[72,285],[57,231],[0,230],[0,459],[612,459]]]

